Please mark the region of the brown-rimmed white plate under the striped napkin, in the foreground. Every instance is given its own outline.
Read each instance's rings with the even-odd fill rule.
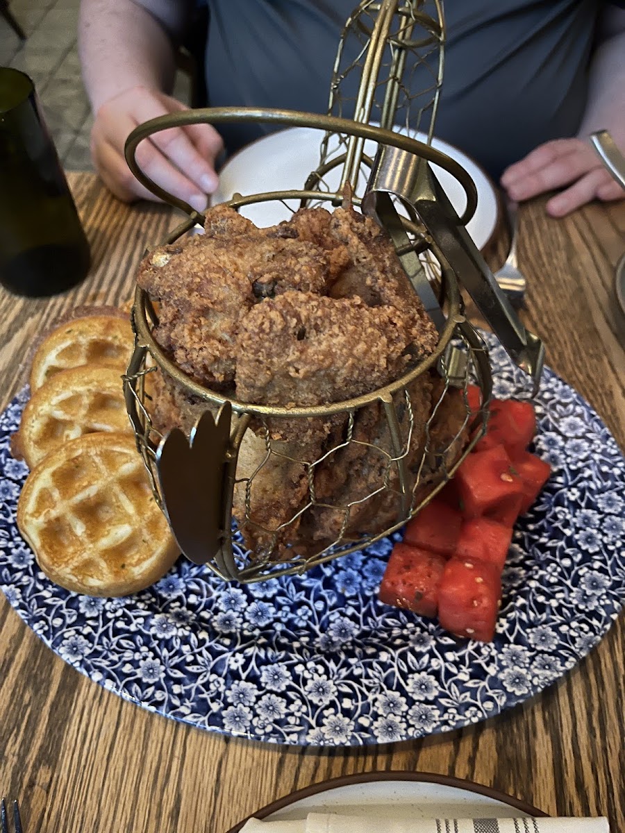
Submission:
[[[541,816],[522,801],[471,781],[421,772],[373,772],[346,776],[286,796],[253,816],[303,821],[308,813],[385,816],[392,821],[426,818],[522,818]],[[233,827],[236,833],[243,824]]]

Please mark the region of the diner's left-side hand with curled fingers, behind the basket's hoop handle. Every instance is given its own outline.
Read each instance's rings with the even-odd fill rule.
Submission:
[[[147,87],[132,87],[102,104],[91,133],[93,163],[107,187],[124,202],[156,200],[133,176],[123,155],[128,134],[142,122],[187,110],[181,102]],[[196,211],[207,206],[207,194],[218,185],[215,157],[222,138],[208,124],[174,127],[155,133],[137,147],[138,166],[166,191]]]

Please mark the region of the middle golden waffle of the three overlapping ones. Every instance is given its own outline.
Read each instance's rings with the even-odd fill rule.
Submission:
[[[32,468],[62,443],[93,431],[132,431],[119,368],[85,365],[48,379],[24,408],[18,450]]]

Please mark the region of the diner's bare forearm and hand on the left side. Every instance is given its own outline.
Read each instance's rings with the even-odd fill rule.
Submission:
[[[111,191],[123,200],[154,199],[123,157],[128,134],[141,122],[187,109],[167,95],[175,74],[175,43],[187,22],[181,0],[82,0],[78,44],[92,103],[92,157]],[[217,187],[214,161],[222,148],[208,125],[160,132],[137,148],[155,182],[198,211]]]

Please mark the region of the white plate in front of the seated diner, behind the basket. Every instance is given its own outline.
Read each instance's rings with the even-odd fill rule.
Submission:
[[[229,200],[237,192],[247,195],[303,188],[308,174],[318,166],[322,138],[323,132],[312,127],[289,127],[252,142],[235,153],[223,166],[219,174],[218,191],[213,195],[213,204]],[[418,133],[416,138],[425,141],[422,133]],[[468,222],[467,229],[478,249],[483,249],[493,236],[498,222],[498,201],[493,183],[482,168],[457,147],[440,139],[434,139],[432,144],[459,162],[475,182],[478,208]],[[375,142],[365,142],[364,149],[365,153],[375,155]],[[442,168],[433,165],[433,170],[453,207],[458,214],[462,214],[467,204],[463,187]],[[338,187],[339,168],[328,174],[326,182],[330,187]],[[297,206],[293,204],[293,207]],[[288,208],[279,202],[248,206],[241,213],[259,227],[276,225],[291,216]]]

